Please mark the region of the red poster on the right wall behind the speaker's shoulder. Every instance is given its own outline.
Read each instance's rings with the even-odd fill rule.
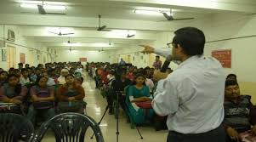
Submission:
[[[219,60],[224,68],[231,68],[231,49],[214,50],[212,56]]]

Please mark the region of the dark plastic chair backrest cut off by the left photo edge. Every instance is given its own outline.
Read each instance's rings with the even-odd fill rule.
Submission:
[[[25,117],[14,113],[0,114],[0,141],[29,141],[34,133],[32,123]]]

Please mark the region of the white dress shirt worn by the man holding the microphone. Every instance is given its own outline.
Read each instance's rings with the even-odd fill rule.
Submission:
[[[205,133],[224,119],[225,72],[218,60],[192,56],[160,80],[152,102],[156,114],[168,116],[168,130]]]

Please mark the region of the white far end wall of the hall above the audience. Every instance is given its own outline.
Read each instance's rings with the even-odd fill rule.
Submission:
[[[79,58],[87,58],[88,62],[111,62],[107,51],[86,51],[86,50],[57,50],[57,62],[76,62]]]

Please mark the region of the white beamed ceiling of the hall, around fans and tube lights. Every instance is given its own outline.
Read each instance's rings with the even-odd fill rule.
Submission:
[[[37,0],[38,1],[38,0]],[[162,15],[134,14],[140,7],[174,9],[174,18],[194,17],[201,20],[212,14],[253,14],[256,13],[255,0],[48,0],[58,2],[67,9],[65,15],[42,15],[37,9],[20,8],[23,0],[1,0],[0,24],[20,26],[24,36],[50,48],[65,47],[71,43],[81,43],[77,48],[96,49],[90,43],[111,43],[105,49],[125,48],[139,43],[151,43],[161,31],[174,31],[174,25],[192,22],[164,21]],[[47,10],[47,12],[56,12]],[[102,25],[110,30],[136,31],[136,36],[127,38],[110,31],[96,31],[102,15]],[[70,27],[74,35],[58,36],[48,32],[48,27]]]

